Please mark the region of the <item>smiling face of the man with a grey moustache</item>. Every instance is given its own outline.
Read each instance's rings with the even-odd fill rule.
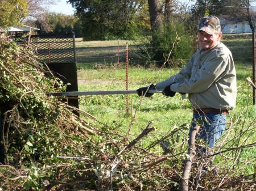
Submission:
[[[209,35],[207,32],[199,31],[198,40],[199,45],[204,50],[208,50],[218,44],[218,41],[221,39],[222,33]]]

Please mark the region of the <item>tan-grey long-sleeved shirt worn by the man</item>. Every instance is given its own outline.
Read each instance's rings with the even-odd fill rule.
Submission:
[[[236,107],[236,69],[232,53],[222,43],[209,50],[198,49],[178,74],[157,83],[156,88],[161,90],[173,82],[171,90],[188,93],[193,108]]]

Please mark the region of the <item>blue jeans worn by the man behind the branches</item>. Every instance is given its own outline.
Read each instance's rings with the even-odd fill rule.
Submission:
[[[200,125],[199,134],[196,135],[196,138],[203,139],[212,148],[225,130],[226,115],[218,113],[193,113],[189,137],[196,125]]]

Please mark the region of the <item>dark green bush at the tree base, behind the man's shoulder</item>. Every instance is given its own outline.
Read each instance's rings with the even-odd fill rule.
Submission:
[[[130,51],[134,58],[143,60],[144,66],[183,67],[196,50],[196,35],[184,24],[170,23],[152,36],[137,37],[137,49]],[[169,56],[170,54],[170,56]]]

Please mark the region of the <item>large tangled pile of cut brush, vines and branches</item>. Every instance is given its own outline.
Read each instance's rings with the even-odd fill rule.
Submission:
[[[108,125],[91,125],[85,119],[97,119],[90,114],[79,111],[82,117],[77,117],[75,108],[46,96],[65,86],[30,48],[7,38],[0,48],[0,189],[180,190],[189,157],[188,126],[156,138],[152,122],[134,137]],[[255,132],[253,125],[246,127],[246,136],[248,130]],[[255,163],[239,157],[255,143],[243,143],[196,158],[189,190],[254,190],[255,174],[242,172]],[[214,156],[217,163],[212,164]]]

